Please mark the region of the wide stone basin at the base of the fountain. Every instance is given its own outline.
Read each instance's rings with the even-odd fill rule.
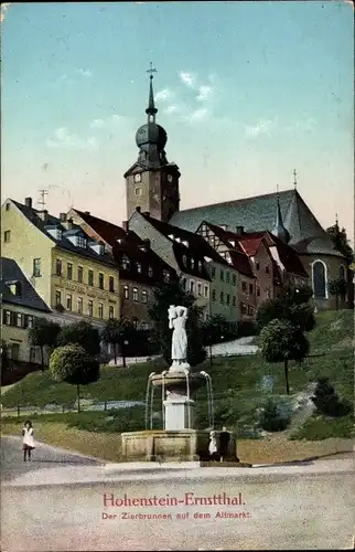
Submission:
[[[128,461],[193,461],[208,457],[209,432],[205,429],[149,429],[121,434],[122,456]]]

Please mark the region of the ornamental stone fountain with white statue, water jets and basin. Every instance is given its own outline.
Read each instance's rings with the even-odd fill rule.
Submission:
[[[185,323],[187,309],[171,306],[168,310],[172,336],[172,365],[148,378],[146,393],[146,429],[122,433],[122,455],[127,460],[203,460],[209,457],[209,432],[214,428],[211,376],[202,371],[191,373],[187,363]],[[194,429],[194,393],[206,386],[208,429]],[[154,391],[162,405],[162,429],[153,428]]]

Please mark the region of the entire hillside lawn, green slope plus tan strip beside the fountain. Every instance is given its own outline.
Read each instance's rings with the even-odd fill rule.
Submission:
[[[318,326],[309,335],[309,358],[301,365],[290,365],[291,399],[304,392],[310,382],[322,375],[330,378],[342,399],[354,401],[353,317],[352,310],[318,315]],[[80,397],[94,402],[144,401],[148,375],[163,369],[166,369],[166,365],[162,359],[126,369],[103,367],[100,380],[82,386]],[[353,415],[331,418],[315,414],[294,428],[288,437],[282,438],[282,433],[279,433],[260,438],[257,431],[257,408],[270,394],[286,396],[282,364],[267,363],[257,354],[215,358],[212,365],[207,360],[197,370],[206,370],[211,374],[215,426],[218,428],[226,425],[235,431],[238,437],[238,454],[243,460],[283,461],[352,449],[349,439],[354,436]],[[273,378],[273,389],[269,392],[262,391],[260,386],[266,375]],[[159,392],[155,394],[159,395]],[[64,404],[68,407],[75,402],[76,386],[55,383],[49,372],[29,374],[1,397],[3,408],[20,404],[22,407],[36,406],[39,412],[46,404]],[[154,411],[161,412],[160,396],[155,397]],[[79,414],[39,413],[32,414],[31,418],[36,428],[36,437],[45,443],[118,461],[119,434],[123,431],[144,428],[144,407]],[[208,424],[205,389],[200,390],[196,395],[195,420],[197,427],[204,428]],[[19,435],[23,421],[22,416],[2,417],[2,433]],[[160,427],[159,418],[155,424]]]

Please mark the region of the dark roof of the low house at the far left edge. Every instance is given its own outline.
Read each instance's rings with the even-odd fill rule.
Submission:
[[[10,285],[19,283],[21,295],[14,295]],[[32,284],[28,280],[20,266],[12,258],[1,258],[1,279],[0,279],[1,301],[22,307],[51,312],[51,309],[39,296]]]

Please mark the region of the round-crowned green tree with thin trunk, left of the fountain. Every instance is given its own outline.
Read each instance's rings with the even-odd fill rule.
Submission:
[[[94,383],[99,379],[99,363],[85,349],[76,343],[57,347],[50,359],[53,380],[76,385],[77,412],[80,412],[80,385]]]

